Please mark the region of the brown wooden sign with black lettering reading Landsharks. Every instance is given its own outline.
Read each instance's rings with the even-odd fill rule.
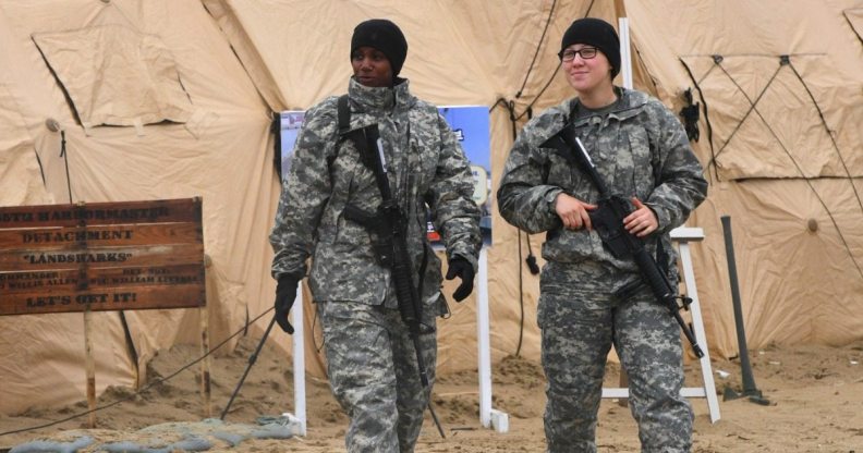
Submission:
[[[200,198],[0,208],[0,315],[202,307]]]

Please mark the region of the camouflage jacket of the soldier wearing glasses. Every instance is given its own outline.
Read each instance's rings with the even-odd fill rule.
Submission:
[[[659,229],[646,241],[656,252],[657,234],[673,259],[668,232],[680,226],[705,198],[707,182],[680,121],[658,99],[616,88],[617,106],[606,115],[576,115],[572,127],[581,138],[609,191],[627,199],[637,197],[656,212]],[[580,169],[539,144],[562,130],[579,109],[578,98],[551,107],[521,131],[510,150],[497,193],[500,215],[528,233],[546,233],[547,261],[591,261],[610,269],[637,272],[632,260],[613,258],[596,231],[566,230],[554,210],[555,197],[566,192],[596,203],[598,191]]]

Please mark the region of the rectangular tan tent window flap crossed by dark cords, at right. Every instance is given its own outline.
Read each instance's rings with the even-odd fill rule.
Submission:
[[[721,97],[712,105],[715,119],[714,158],[722,179],[817,177],[860,175],[863,167],[847,167],[842,145],[850,148],[856,131],[831,137],[823,125],[821,105],[855,109],[863,100],[853,86],[838,81],[806,83],[823,56],[684,57],[703,91]],[[810,95],[812,93],[812,96]],[[814,100],[813,100],[814,97]],[[819,100],[819,101],[818,101]],[[818,101],[816,103],[816,101]],[[835,140],[835,143],[834,143]],[[753,152],[752,150],[757,150]]]

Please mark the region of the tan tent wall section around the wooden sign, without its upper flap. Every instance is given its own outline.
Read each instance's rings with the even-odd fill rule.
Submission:
[[[144,136],[133,127],[94,127],[90,135],[84,133],[31,36],[109,23],[132,26],[161,39],[173,56],[189,98],[195,107],[215,115],[203,134],[195,136],[183,124],[174,123],[145,125]],[[5,159],[10,152],[23,152],[7,147],[13,139],[12,145],[29,146],[41,161],[46,198],[50,198],[34,199],[38,198],[36,189],[28,198],[5,198],[22,187],[42,186],[38,171],[31,171],[26,181],[22,180],[25,175],[0,180],[3,200],[68,203],[64,161],[59,157],[60,134],[45,126],[46,119],[53,118],[65,131],[73,200],[203,197],[205,252],[212,262],[207,269],[207,295],[214,344],[269,308],[271,302],[267,299],[275,284],[269,278],[266,230],[279,193],[271,163],[269,109],[200,3],[5,1],[0,4],[0,77],[14,98],[12,105],[0,105],[0,117],[21,117],[0,127],[8,130],[23,122],[23,126],[13,127],[14,134],[2,135],[0,155]],[[9,171],[4,167],[0,174]],[[125,315],[142,374],[156,351],[198,342],[197,310]],[[263,330],[260,323],[252,331]],[[129,358],[118,314],[98,314],[94,327],[97,390],[112,384],[134,385],[138,376]],[[290,346],[290,339],[282,333],[272,338]],[[5,385],[0,412],[20,413],[29,406],[82,400],[83,354],[80,314],[0,317],[0,377]]]

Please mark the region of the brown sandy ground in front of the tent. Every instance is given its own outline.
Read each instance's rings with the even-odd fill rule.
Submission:
[[[215,417],[221,413],[236,387],[257,339],[243,339],[239,347],[212,362],[212,405]],[[148,378],[173,374],[196,358],[198,346],[177,346],[159,354],[149,365]],[[693,399],[695,432],[693,452],[863,452],[863,341],[843,347],[797,346],[752,351],[750,360],[758,390],[769,405],[747,399],[722,401],[726,387],[741,390],[739,362],[715,360],[721,419],[710,423],[705,399]],[[226,421],[254,425],[262,415],[278,416],[292,406],[290,360],[265,347],[252,368]],[[138,431],[158,424],[195,423],[203,417],[198,393],[197,366],[143,394],[131,389],[109,389],[99,404],[126,400],[97,413],[98,429],[84,429],[87,417],[75,418],[49,428],[8,433],[44,425],[86,409],[80,402],[68,407],[31,409],[17,416],[0,415],[0,452],[24,442],[48,439],[70,442],[90,436],[95,442],[78,451],[97,451],[102,442],[154,442],[153,433]],[[729,374],[719,377],[719,370]],[[609,365],[607,387],[617,387],[616,365]],[[686,367],[688,387],[701,385],[701,368]],[[509,414],[509,432],[485,429],[478,420],[477,376],[466,371],[445,376],[435,387],[434,403],[442,423],[442,439],[432,419],[421,434],[417,452],[543,452],[543,408],[545,405],[542,368],[520,357],[507,357],[493,370],[494,407]],[[306,437],[284,440],[248,439],[235,446],[216,439],[208,451],[229,452],[338,452],[344,451],[347,417],[329,393],[326,382],[307,381],[308,426]],[[159,434],[156,443],[177,438]],[[600,452],[637,452],[636,427],[629,408],[616,400],[604,400],[599,409],[597,444]],[[155,446],[155,445],[154,445]]]

